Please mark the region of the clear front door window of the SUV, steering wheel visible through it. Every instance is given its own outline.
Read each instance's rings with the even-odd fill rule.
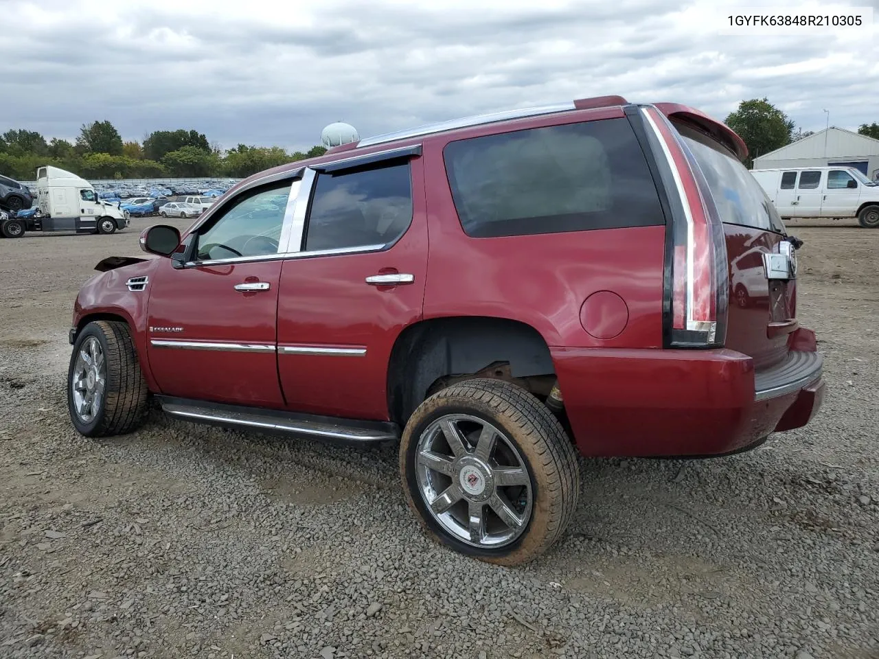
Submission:
[[[284,212],[300,180],[289,179],[242,192],[199,231],[196,259],[259,257],[277,254]],[[188,210],[193,210],[191,207]],[[286,246],[285,246],[286,247]]]

